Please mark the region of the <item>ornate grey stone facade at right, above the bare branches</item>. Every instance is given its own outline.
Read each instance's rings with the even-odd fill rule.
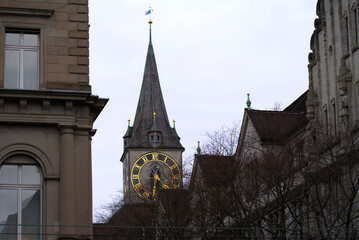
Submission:
[[[318,1],[309,54],[308,118],[327,136],[359,127],[358,2]]]

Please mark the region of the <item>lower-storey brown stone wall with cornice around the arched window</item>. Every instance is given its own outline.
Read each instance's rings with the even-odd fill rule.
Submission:
[[[51,225],[44,239],[91,237],[92,125],[106,102],[89,93],[0,89],[0,166],[19,154],[40,166],[42,224]]]

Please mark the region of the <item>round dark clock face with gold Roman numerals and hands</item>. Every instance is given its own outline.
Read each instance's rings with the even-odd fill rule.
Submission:
[[[131,183],[138,195],[148,201],[154,201],[160,189],[180,187],[181,172],[177,163],[167,154],[146,153],[133,165]]]

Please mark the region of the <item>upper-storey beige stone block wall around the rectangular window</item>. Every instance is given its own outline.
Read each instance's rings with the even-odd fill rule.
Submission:
[[[0,8],[5,8],[0,10],[1,62],[6,28],[40,30],[40,89],[91,90],[87,0],[2,0]],[[4,72],[3,65],[0,72]],[[3,74],[0,87],[4,87]]]

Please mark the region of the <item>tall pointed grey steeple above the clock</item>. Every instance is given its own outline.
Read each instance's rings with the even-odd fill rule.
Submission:
[[[168,121],[153,51],[151,20],[149,24],[149,44],[145,71],[136,116],[126,148],[153,148],[155,146],[167,149],[183,149],[177,133],[174,132]],[[156,133],[155,140],[157,143],[159,141],[159,144],[151,144],[150,134],[153,132]]]

